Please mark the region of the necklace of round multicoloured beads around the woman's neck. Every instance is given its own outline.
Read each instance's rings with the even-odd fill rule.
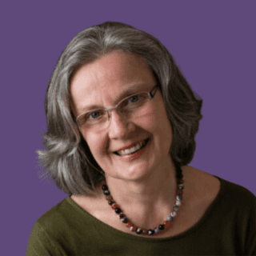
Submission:
[[[183,174],[182,174],[182,168],[175,163],[176,167],[176,179],[177,179],[177,186],[178,190],[176,193],[176,201],[173,207],[173,211],[171,214],[166,218],[162,224],[160,224],[158,227],[150,230],[142,229],[137,226],[135,226],[132,222],[129,221],[128,218],[126,218],[125,214],[122,213],[122,210],[120,206],[116,202],[114,202],[113,197],[110,195],[110,190],[108,189],[108,186],[104,184],[102,186],[103,194],[106,195],[106,200],[108,201],[109,205],[112,207],[112,209],[115,211],[116,214],[118,214],[118,218],[121,219],[122,223],[126,224],[126,226],[132,231],[136,232],[136,234],[159,234],[162,233],[165,228],[169,227],[170,224],[172,224],[174,217],[176,216],[176,212],[178,211],[179,207],[182,205],[182,194],[183,194]]]

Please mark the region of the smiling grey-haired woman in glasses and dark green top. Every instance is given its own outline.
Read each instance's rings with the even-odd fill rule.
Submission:
[[[70,196],[38,219],[26,254],[256,254],[254,194],[187,166],[201,107],[150,34],[118,22],[77,34],[38,151]]]

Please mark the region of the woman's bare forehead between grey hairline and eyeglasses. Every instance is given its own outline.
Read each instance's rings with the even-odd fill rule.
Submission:
[[[70,82],[73,109],[81,114],[87,106],[113,106],[126,90],[147,90],[154,76],[141,57],[112,52],[82,66]]]

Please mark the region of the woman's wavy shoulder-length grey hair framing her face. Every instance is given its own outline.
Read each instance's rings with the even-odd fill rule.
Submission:
[[[82,138],[71,110],[70,80],[75,71],[114,50],[138,54],[158,80],[173,132],[170,156],[181,166],[194,157],[202,98],[195,97],[174,58],[158,39],[120,22],[104,22],[78,33],[63,50],[46,92],[46,150],[38,150],[43,174],[68,194],[93,194],[104,179]],[[197,94],[196,94],[197,95]]]

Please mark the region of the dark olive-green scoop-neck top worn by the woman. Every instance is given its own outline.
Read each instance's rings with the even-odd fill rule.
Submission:
[[[26,255],[256,255],[256,197],[218,179],[221,190],[201,220],[170,238],[115,230],[69,196],[38,218]]]

